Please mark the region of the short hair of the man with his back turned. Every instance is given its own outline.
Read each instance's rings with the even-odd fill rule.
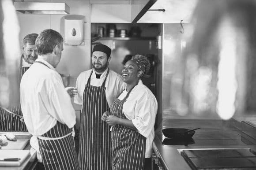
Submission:
[[[43,30],[36,39],[38,54],[52,53],[55,46],[62,42],[63,37],[57,31],[52,29]]]

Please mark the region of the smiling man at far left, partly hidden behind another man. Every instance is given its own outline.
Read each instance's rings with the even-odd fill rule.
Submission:
[[[35,41],[38,37],[37,33],[30,33],[23,38],[22,43],[22,55],[20,58],[20,67],[18,75],[18,83],[23,74],[30,68],[34,61],[38,58],[38,52],[36,49]],[[19,96],[15,95],[15,96]],[[19,98],[19,97],[18,97]],[[0,130],[4,131],[24,131],[27,130],[23,121],[23,114],[20,105],[16,106],[10,103],[10,107],[0,108]]]

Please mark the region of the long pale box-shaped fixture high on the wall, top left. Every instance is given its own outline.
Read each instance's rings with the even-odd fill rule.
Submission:
[[[69,6],[60,2],[14,2],[16,11],[23,14],[69,14]]]

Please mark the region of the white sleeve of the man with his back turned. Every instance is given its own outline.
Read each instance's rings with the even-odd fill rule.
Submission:
[[[51,108],[53,108],[49,114],[72,128],[75,125],[75,110],[71,98],[61,82],[53,83],[49,91],[49,101],[49,104],[52,104]]]

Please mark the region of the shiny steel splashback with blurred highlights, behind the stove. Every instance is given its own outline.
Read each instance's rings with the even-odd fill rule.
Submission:
[[[250,32],[232,24],[210,25],[207,33],[199,26],[183,26],[181,33],[180,24],[163,24],[163,118],[255,120],[255,42]]]

